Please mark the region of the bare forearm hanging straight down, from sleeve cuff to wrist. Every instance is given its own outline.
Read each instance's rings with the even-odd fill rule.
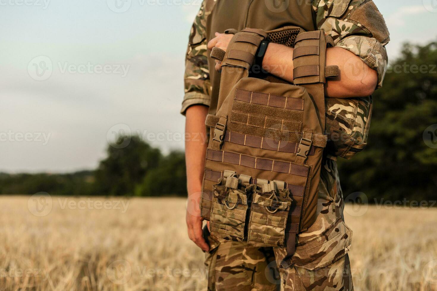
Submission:
[[[201,191],[202,178],[205,166],[206,154],[206,129],[205,118],[208,107],[193,105],[186,112],[185,133],[185,162],[187,166],[187,189],[188,194]]]

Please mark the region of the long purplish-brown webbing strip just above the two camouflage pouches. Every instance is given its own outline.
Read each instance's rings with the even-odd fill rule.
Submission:
[[[231,151],[206,150],[206,159],[209,161],[218,161],[228,164],[237,164],[243,167],[273,171],[278,173],[292,174],[302,177],[308,177],[308,168],[290,163],[287,161],[272,160],[260,157],[253,157],[246,154],[238,154]]]

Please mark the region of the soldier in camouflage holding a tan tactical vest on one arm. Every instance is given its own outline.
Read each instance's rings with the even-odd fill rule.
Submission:
[[[326,96],[335,97],[327,98],[326,115],[338,121],[338,130],[364,140],[370,116],[357,100],[382,86],[387,68],[384,46],[389,41],[382,15],[371,0],[284,0],[277,5],[278,2],[203,1],[191,29],[186,55],[181,110],[186,115],[186,132],[206,136],[205,116],[215,113],[221,64],[209,54],[214,47],[226,51],[232,35],[223,34],[225,29],[240,31],[250,27],[268,31],[295,25],[305,31],[323,30],[333,38],[335,46],[327,50],[326,65],[338,65],[340,75],[326,83]],[[263,69],[292,82],[292,55],[293,48],[271,43]],[[203,140],[186,142],[189,201],[200,201],[206,147]],[[284,290],[353,290],[347,254],[352,231],[343,219],[343,193],[336,166],[339,155],[348,157],[347,151],[339,154],[326,149],[317,220],[298,235],[293,265],[286,269],[279,266],[285,256],[284,248],[257,248],[246,242],[217,239],[208,229],[202,232],[198,205],[188,203],[188,235],[206,253],[208,290],[279,290],[281,284]]]

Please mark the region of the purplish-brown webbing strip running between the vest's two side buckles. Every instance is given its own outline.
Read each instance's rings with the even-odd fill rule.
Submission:
[[[232,144],[245,145],[248,147],[261,148],[270,151],[281,151],[284,153],[295,154],[298,152],[299,144],[286,140],[274,140],[266,137],[259,137],[250,134],[241,134],[227,130],[224,141]],[[308,155],[314,155],[315,147],[312,146]]]

